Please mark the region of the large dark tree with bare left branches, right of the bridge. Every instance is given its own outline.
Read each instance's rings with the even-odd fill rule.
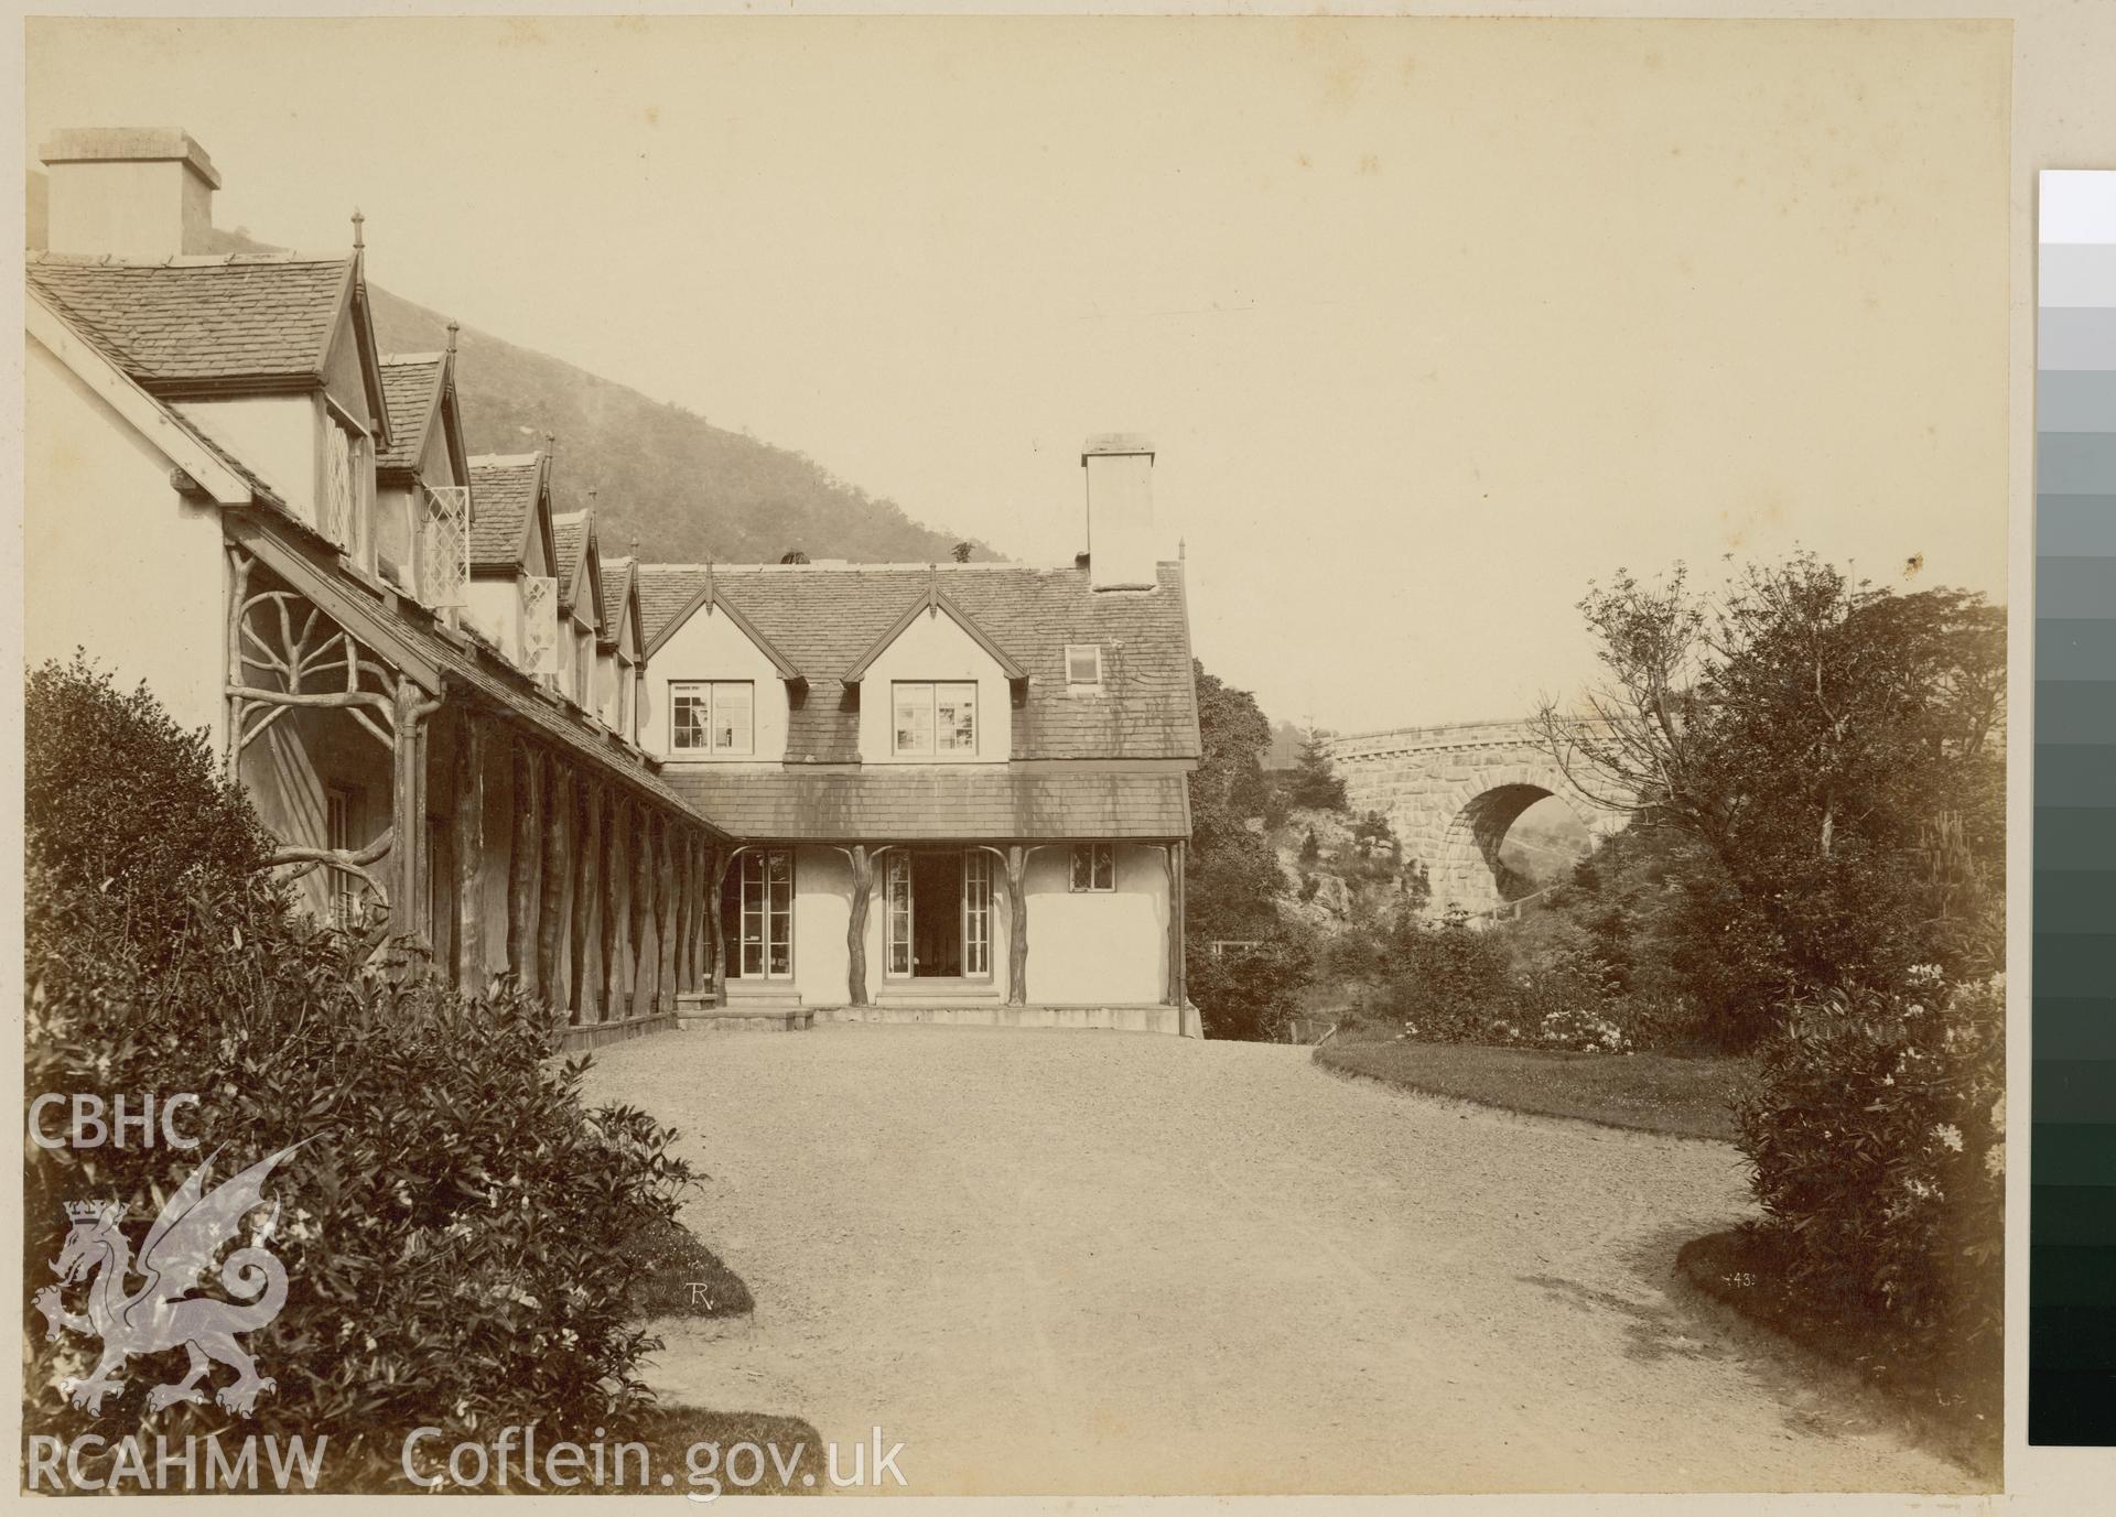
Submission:
[[[1657,588],[1619,573],[1581,609],[1608,677],[1579,717],[1545,707],[1543,745],[1591,798],[1699,844],[1670,855],[1674,937],[1729,1018],[1761,1030],[1786,992],[1976,952],[1964,929],[2004,857],[2000,609],[1813,554],[1714,601],[1680,567]]]

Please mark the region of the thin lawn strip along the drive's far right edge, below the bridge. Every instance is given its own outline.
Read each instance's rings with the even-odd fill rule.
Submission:
[[[1316,1064],[1430,1096],[1722,1143],[1735,1138],[1733,1102],[1752,1077],[1746,1058],[1416,1041],[1331,1041],[1316,1049]]]

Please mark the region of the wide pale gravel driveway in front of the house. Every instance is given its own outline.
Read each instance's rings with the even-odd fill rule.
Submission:
[[[880,1424],[914,1492],[1968,1487],[1672,1293],[1725,1145],[1130,1032],[675,1032],[592,1090],[683,1128],[758,1297],[650,1379]]]

